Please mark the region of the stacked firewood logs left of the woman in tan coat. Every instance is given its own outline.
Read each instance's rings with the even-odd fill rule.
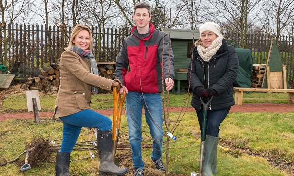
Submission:
[[[56,63],[45,63],[38,77],[28,77],[26,87],[29,90],[39,90],[57,94],[59,87],[59,60]]]

